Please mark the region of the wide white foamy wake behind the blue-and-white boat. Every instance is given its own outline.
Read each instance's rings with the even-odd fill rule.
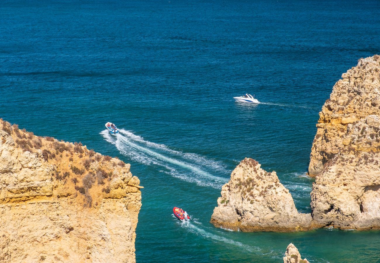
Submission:
[[[116,136],[110,135],[107,130],[103,130],[100,134],[131,160],[145,165],[160,166],[163,173],[201,186],[220,189],[228,181],[222,176],[215,176],[209,172],[216,171],[218,174],[228,176],[230,172],[220,162],[201,155],[176,151],[164,144],[146,141],[141,136],[123,129],[119,132]]]

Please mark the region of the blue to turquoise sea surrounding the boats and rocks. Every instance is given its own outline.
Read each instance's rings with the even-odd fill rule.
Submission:
[[[379,231],[242,233],[209,223],[244,157],[299,211],[318,112],[380,52],[378,1],[3,1],[0,117],[131,163],[138,262],[379,262]],[[255,94],[261,104],[232,97]],[[108,121],[122,129],[106,133]],[[81,127],[80,129],[77,129]],[[180,223],[174,206],[192,217]]]

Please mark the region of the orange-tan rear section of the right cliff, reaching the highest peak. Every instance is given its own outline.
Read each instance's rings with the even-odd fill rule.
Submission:
[[[317,134],[310,154],[309,175],[316,176],[340,149],[348,124],[380,114],[380,57],[359,59],[358,65],[342,74],[319,113]],[[346,145],[345,145],[346,144]]]

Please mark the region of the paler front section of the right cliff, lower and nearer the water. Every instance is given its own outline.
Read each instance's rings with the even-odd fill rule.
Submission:
[[[380,118],[349,124],[347,144],[326,163],[311,193],[313,221],[342,229],[380,228]]]

